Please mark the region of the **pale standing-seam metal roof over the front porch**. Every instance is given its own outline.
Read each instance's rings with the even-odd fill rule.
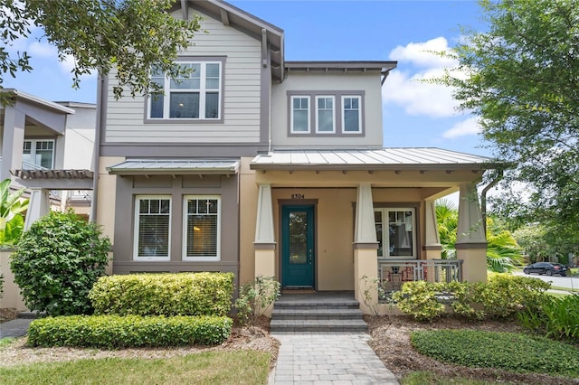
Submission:
[[[278,150],[253,158],[252,170],[355,170],[355,171],[480,171],[493,160],[440,148],[383,148],[380,150]]]

